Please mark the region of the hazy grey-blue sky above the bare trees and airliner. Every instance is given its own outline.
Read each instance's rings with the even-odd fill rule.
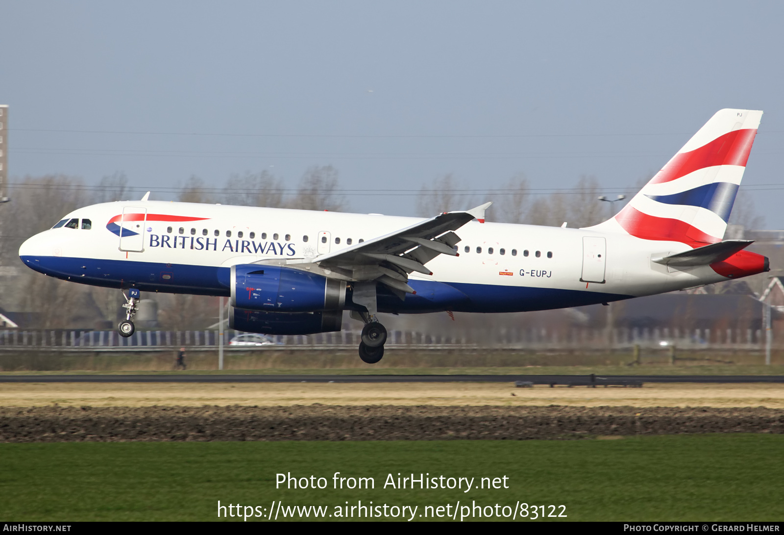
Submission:
[[[444,173],[477,193],[517,173],[542,192],[592,174],[614,195],[742,107],[765,112],[742,190],[784,228],[782,15],[682,0],[5,0],[11,181],[122,171],[170,198],[191,175],[220,187],[267,169],[296,187],[332,164],[351,211],[401,215]]]

